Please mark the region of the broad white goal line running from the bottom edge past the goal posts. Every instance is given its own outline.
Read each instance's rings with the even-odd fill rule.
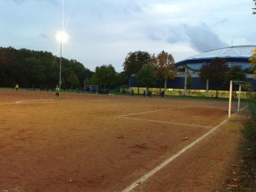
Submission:
[[[240,111],[242,111],[243,109],[247,108],[248,106],[242,108]],[[237,112],[236,112],[237,113]],[[236,114],[235,113],[235,114]],[[217,128],[219,128],[221,125],[224,125],[227,122],[228,118],[225,119],[223,122],[221,122],[220,124],[218,124],[217,126],[215,126],[214,128],[212,128],[210,131],[208,131],[206,134],[204,134],[203,136],[199,137],[197,140],[195,140],[194,142],[190,143],[189,145],[187,145],[185,148],[181,149],[179,152],[177,152],[176,154],[174,154],[172,157],[170,157],[169,159],[165,160],[163,163],[161,163],[159,166],[157,166],[156,168],[152,169],[150,172],[148,172],[146,175],[144,175],[143,177],[140,177],[140,179],[136,180],[134,183],[132,183],[130,186],[128,186],[126,189],[124,189],[122,192],[130,192],[132,189],[134,189],[136,186],[139,185],[139,183],[143,183],[145,180],[148,179],[148,177],[151,177],[152,175],[154,175],[156,172],[158,172],[160,169],[162,169],[164,166],[166,166],[167,164],[169,164],[170,162],[172,162],[172,160],[174,160],[176,157],[180,156],[180,154],[183,154],[186,150],[188,150],[189,148],[191,148],[193,145],[195,145],[196,143],[200,142],[201,140],[203,140],[205,137],[207,137],[209,134],[211,134],[213,131],[215,131]]]

